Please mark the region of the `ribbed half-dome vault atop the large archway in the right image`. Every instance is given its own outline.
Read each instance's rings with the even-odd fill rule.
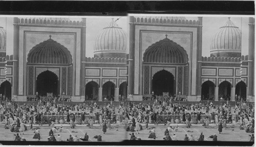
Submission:
[[[149,46],[143,56],[144,62],[150,63],[187,63],[187,53],[179,44],[167,38]]]

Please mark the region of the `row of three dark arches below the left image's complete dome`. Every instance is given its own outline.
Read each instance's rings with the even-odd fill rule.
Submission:
[[[124,100],[127,95],[127,83],[122,82],[117,88],[115,84],[108,81],[103,84],[102,88],[95,81],[86,84],[86,100],[102,101],[106,97],[108,100],[119,101]],[[101,99],[98,99],[102,97]]]

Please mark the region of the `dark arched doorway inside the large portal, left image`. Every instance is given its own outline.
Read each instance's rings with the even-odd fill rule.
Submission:
[[[41,72],[36,78],[36,91],[38,95],[47,95],[47,93],[53,93],[53,95],[59,95],[59,81],[58,76],[52,71],[46,70]]]

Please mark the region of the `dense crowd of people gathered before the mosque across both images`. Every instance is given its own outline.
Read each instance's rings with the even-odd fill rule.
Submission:
[[[23,105],[18,105],[15,102],[1,103],[0,110],[0,123],[5,124],[9,129],[10,127],[14,128],[13,132],[20,133],[26,131],[25,124],[29,124],[30,130],[33,130],[34,124],[47,123],[53,127],[54,124],[70,124],[71,128],[75,128],[76,124],[85,124],[90,128],[93,128],[94,124],[99,124],[105,134],[107,129],[111,129],[111,124],[118,124],[124,125],[126,131],[135,132],[135,134],[143,129],[142,126],[145,126],[145,129],[150,130],[149,137],[155,138],[155,130],[148,128],[148,124],[163,123],[169,127],[170,124],[182,123],[190,128],[192,117],[196,118],[193,123],[202,123],[206,128],[209,127],[209,124],[218,125],[219,133],[222,133],[222,128],[226,129],[226,124],[240,125],[249,128],[250,133],[254,132],[254,105],[246,102],[238,102],[235,106],[231,106],[227,101],[222,106],[217,106],[212,102],[179,104],[168,99],[156,99],[154,104],[129,102],[129,104],[120,103],[118,106],[111,105],[111,103],[99,106],[96,102],[84,102],[76,105],[55,104],[53,100]],[[49,119],[42,122],[42,117],[46,115],[64,117],[61,120]],[[87,115],[91,117],[88,118]],[[177,128],[172,129],[176,130]],[[170,129],[168,131],[170,132]],[[38,134],[39,131],[35,130],[35,137],[39,136],[40,138]],[[186,137],[191,138],[191,136]],[[175,139],[173,138],[173,140]]]

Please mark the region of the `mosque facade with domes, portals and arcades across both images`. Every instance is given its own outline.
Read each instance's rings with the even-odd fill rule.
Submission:
[[[91,58],[86,18],[15,17],[13,55],[5,55],[0,28],[0,92],[15,101],[46,93],[79,102],[142,101],[163,92],[188,101],[254,101],[254,18],[248,19],[249,48],[241,48],[241,30],[227,18],[212,34],[210,57],[202,57],[202,17],[130,16],[129,35],[110,20],[99,28]]]

